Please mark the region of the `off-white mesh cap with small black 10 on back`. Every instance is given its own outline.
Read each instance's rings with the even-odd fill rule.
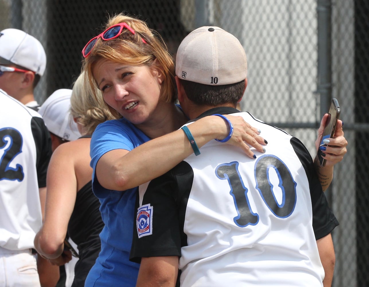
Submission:
[[[204,26],[188,34],[176,55],[176,75],[205,85],[228,85],[247,77],[245,50],[234,35]]]

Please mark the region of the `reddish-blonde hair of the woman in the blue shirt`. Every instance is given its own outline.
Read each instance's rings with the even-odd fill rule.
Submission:
[[[146,64],[153,69],[158,69],[163,75],[160,100],[175,102],[177,94],[174,61],[162,37],[156,31],[149,29],[144,21],[124,14],[110,18],[105,29],[119,23],[126,23],[135,31],[135,34],[123,28],[120,36],[115,39],[104,41],[99,38],[96,41],[91,53],[83,61],[83,70],[86,71],[90,84],[97,86],[92,71],[96,62],[101,59],[130,65]]]

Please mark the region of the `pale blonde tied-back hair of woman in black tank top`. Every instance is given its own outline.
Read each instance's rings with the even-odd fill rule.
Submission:
[[[70,97],[70,114],[85,127],[86,134],[92,134],[97,125],[106,120],[116,119],[103,101],[101,91],[85,82],[82,72],[74,82]]]

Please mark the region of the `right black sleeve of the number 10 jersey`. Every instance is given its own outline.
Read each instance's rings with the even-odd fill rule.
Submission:
[[[313,229],[315,239],[318,240],[331,233],[339,223],[328,205],[310,153],[295,137],[292,137],[291,144],[303,164],[309,181],[311,205],[313,206]]]

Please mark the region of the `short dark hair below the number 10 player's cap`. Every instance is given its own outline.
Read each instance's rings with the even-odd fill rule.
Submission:
[[[245,89],[245,80],[241,82],[210,86],[180,79],[187,97],[197,105],[220,106],[226,103],[237,105]]]

